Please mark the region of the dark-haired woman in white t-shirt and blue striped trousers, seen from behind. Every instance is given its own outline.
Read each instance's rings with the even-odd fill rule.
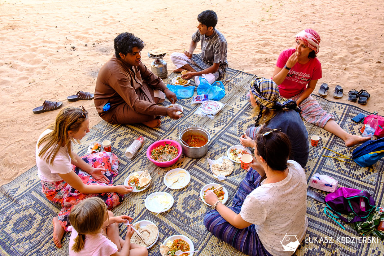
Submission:
[[[308,225],[307,182],[303,168],[288,160],[290,149],[290,140],[280,129],[260,129],[255,138],[255,157],[266,178],[261,181],[251,168],[230,207],[208,191],[205,201],[215,210],[204,217],[207,230],[248,255],[295,253]]]

